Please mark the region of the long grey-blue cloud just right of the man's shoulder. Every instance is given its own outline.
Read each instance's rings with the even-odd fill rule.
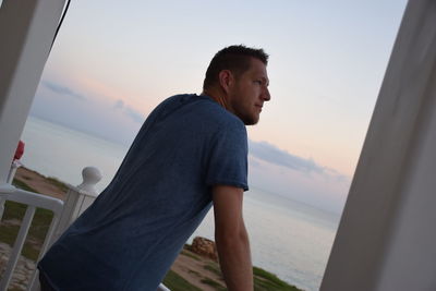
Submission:
[[[267,142],[253,142],[249,143],[250,154],[258,159],[283,166],[292,170],[301,172],[316,172],[325,173],[326,168],[317,165],[313,159],[305,159],[286,150],[279,149]]]

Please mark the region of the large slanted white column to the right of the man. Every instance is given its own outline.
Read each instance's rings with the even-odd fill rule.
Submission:
[[[436,290],[436,1],[409,1],[323,291]]]

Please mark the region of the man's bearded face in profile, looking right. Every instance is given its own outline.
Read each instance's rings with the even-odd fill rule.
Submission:
[[[235,78],[229,90],[229,110],[245,125],[256,124],[264,102],[270,99],[268,85],[266,65],[253,58],[250,69]]]

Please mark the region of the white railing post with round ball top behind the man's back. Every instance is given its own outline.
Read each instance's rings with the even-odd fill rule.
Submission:
[[[98,196],[95,189],[101,180],[101,172],[95,167],[82,170],[83,182],[78,186],[68,185],[66,199],[53,239],[57,240],[62,232],[84,211]]]

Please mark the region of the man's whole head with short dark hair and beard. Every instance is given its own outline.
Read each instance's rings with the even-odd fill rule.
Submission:
[[[220,102],[246,125],[257,123],[264,101],[270,99],[263,49],[230,46],[218,51],[206,71],[204,94]]]

